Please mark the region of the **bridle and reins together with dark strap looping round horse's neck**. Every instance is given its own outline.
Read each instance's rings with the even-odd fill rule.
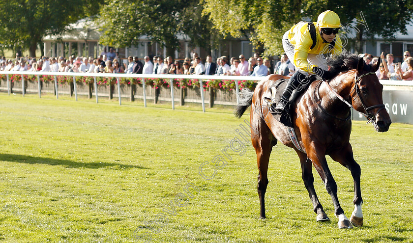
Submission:
[[[367,123],[373,123],[373,124],[374,124],[374,123],[375,123],[374,120],[376,119],[377,114],[378,114],[382,109],[384,109],[384,105],[381,104],[381,105],[374,105],[374,106],[371,106],[371,107],[367,107],[366,104],[364,103],[363,98],[361,98],[362,96],[361,96],[360,87],[359,87],[358,84],[357,84],[357,82],[360,81],[361,78],[363,78],[363,77],[365,77],[365,76],[367,76],[367,75],[373,75],[373,74],[375,75],[376,73],[370,72],[370,73],[362,74],[362,75],[360,75],[359,77],[357,77],[357,75],[354,76],[354,88],[353,88],[353,90],[355,89],[355,92],[356,92],[357,96],[360,98],[361,105],[363,106],[363,108],[364,108],[364,110],[366,111],[366,113],[363,113],[363,112],[360,112],[360,111],[356,110],[356,109],[352,106],[352,104],[350,104],[349,102],[347,102],[341,95],[339,95],[336,91],[334,91],[333,88],[331,88],[330,84],[329,84],[327,81],[325,81],[325,83],[327,84],[328,89],[329,89],[339,100],[341,100],[342,102],[344,102],[348,107],[353,108],[353,109],[354,109],[355,111],[357,111],[359,114],[361,114],[361,115],[363,115],[364,117],[366,117],[366,118],[368,119],[368,122],[367,122]],[[321,82],[320,82],[319,85],[318,85],[318,86],[319,86],[318,89],[320,89],[320,84],[321,84]],[[353,90],[350,92],[350,96],[352,96],[351,94],[353,93]],[[315,91],[314,91],[314,92],[315,92]],[[354,100],[355,100],[355,99],[354,99]],[[317,102],[316,102],[316,103],[317,103]],[[328,115],[330,115],[330,116],[332,116],[332,117],[334,117],[334,118],[336,118],[336,119],[343,120],[343,121],[347,121],[348,119],[350,119],[351,113],[350,113],[350,116],[349,116],[349,117],[347,117],[346,119],[343,119],[343,118],[335,117],[335,116],[329,114],[329,113],[326,112],[326,110],[325,110],[324,108],[322,108],[318,103],[317,103],[317,105],[318,105],[326,114],[328,114]],[[374,109],[374,108],[380,108],[380,109],[379,109],[375,114],[370,113],[369,110]]]

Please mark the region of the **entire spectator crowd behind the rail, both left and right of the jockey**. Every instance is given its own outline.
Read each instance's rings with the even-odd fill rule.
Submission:
[[[413,58],[409,52],[403,53],[404,61],[394,63],[393,54],[373,57],[371,54],[359,54],[367,64],[376,63],[381,58],[379,70],[376,72],[380,80],[413,80]],[[192,58],[182,61],[172,56],[144,57],[144,63],[138,56],[129,56],[128,63],[122,63],[119,54],[113,48],[109,52],[104,50],[98,58],[74,55],[69,58],[62,56],[40,59],[16,56],[15,59],[6,59],[0,56],[0,71],[42,71],[42,72],[79,72],[79,73],[134,73],[134,74],[184,74],[184,75],[234,75],[234,76],[267,76],[271,73],[284,76],[295,72],[293,63],[286,54],[282,54],[280,61],[271,70],[270,60],[255,53],[248,59],[243,54],[238,58],[220,56],[213,62],[207,55],[205,60],[193,53]]]

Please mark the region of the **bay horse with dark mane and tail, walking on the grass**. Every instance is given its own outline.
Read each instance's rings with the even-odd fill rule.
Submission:
[[[391,120],[383,105],[383,85],[376,72],[380,59],[373,65],[366,65],[355,54],[343,52],[327,61],[330,81],[314,81],[298,96],[292,106],[292,123],[301,151],[293,145],[288,127],[276,120],[268,112],[264,97],[271,97],[271,85],[281,79],[281,75],[269,75],[260,81],[254,92],[242,89],[239,104],[234,113],[240,118],[251,106],[251,141],[257,153],[258,195],[260,198],[260,218],[266,218],[265,193],[268,185],[267,170],[272,147],[280,141],[295,149],[302,170],[304,186],[313,203],[317,221],[330,220],[323,210],[314,189],[312,166],[324,182],[334,204],[334,214],[339,228],[363,225],[361,211],[360,166],[354,161],[349,142],[352,131],[351,107],[364,114],[377,132],[386,132]],[[295,111],[295,112],[294,112]],[[354,179],[354,211],[350,220],[344,214],[337,198],[337,184],[325,159],[331,159],[347,167]]]

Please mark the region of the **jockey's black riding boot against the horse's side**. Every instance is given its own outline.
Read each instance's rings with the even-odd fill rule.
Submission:
[[[290,80],[287,83],[283,91],[283,95],[281,96],[281,100],[278,105],[274,108],[275,112],[281,114],[285,107],[287,106],[288,102],[290,101],[291,94],[294,90],[301,88],[304,84],[309,82],[309,77],[300,73],[295,72],[293,76],[291,76]]]

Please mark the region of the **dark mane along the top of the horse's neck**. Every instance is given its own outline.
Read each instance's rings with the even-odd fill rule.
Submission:
[[[359,59],[360,57],[356,54],[351,54],[348,51],[333,55],[327,59],[327,66],[330,67],[328,71],[333,77],[336,77],[341,72],[357,69]],[[364,61],[363,63],[363,70],[369,72],[371,69],[371,64],[367,65]]]

